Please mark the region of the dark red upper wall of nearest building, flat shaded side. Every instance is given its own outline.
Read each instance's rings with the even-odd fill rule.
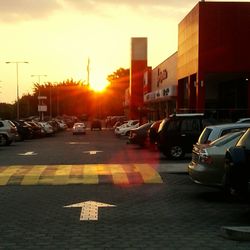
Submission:
[[[250,2],[199,4],[199,68],[250,71]]]

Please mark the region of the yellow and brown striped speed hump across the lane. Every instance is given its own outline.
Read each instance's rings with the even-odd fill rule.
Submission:
[[[0,167],[0,186],[160,184],[150,164],[13,165]]]

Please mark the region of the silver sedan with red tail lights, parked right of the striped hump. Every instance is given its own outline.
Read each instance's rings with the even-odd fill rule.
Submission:
[[[188,166],[191,179],[199,184],[222,186],[226,150],[234,146],[245,130],[228,133],[209,144],[195,144]]]

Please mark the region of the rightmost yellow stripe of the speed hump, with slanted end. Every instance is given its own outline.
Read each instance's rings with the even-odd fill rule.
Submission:
[[[150,164],[134,164],[144,183],[162,183],[161,176]]]

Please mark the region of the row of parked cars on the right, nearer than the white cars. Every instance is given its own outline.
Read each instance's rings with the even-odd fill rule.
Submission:
[[[128,142],[154,145],[174,160],[191,153],[187,168],[195,183],[222,187],[228,194],[246,193],[250,181],[250,122],[246,121],[217,124],[203,114],[176,114],[131,128]]]

